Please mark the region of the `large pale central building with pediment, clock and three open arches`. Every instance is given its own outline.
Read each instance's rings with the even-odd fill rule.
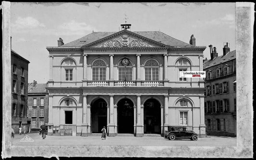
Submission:
[[[49,128],[60,135],[164,134],[168,125],[205,136],[204,80],[180,78],[203,71],[205,46],[162,32],[92,32],[49,51]]]

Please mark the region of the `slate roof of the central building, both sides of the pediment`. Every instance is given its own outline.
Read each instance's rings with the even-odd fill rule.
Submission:
[[[79,38],[79,39],[73,41],[73,42],[61,45],[61,47],[80,47],[82,45],[86,45],[86,44],[92,43],[94,41],[97,41],[99,39],[102,39],[104,37],[110,36],[111,34],[114,34],[114,33],[117,33],[117,32],[92,32],[88,35],[85,35],[82,38]],[[170,46],[181,46],[181,47],[192,46],[191,44],[184,43],[180,40],[177,40],[177,39],[175,39],[163,32],[159,32],[159,31],[145,31],[145,32],[134,32],[134,33],[144,36],[146,38],[149,38],[151,40],[154,40],[154,41],[166,44],[166,45],[170,45]],[[85,41],[85,43],[80,44],[80,41]]]

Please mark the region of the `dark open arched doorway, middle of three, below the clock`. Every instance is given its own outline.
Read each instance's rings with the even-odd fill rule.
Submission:
[[[134,133],[134,103],[123,98],[117,103],[118,133]]]

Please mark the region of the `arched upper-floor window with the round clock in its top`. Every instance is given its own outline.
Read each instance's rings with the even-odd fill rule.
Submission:
[[[128,62],[126,62],[128,61]],[[133,80],[133,66],[129,59],[122,59],[118,64],[118,80],[132,81]]]

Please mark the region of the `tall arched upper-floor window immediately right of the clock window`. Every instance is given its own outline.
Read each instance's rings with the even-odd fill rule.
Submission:
[[[156,60],[148,60],[145,64],[145,80],[158,81],[159,80],[159,64]]]

